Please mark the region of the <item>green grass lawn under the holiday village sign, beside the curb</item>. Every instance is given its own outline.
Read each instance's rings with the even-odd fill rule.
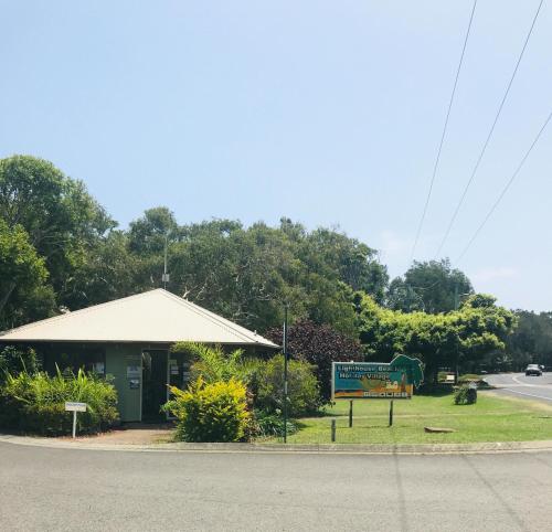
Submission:
[[[395,400],[389,427],[389,401],[355,401],[349,428],[349,402],[338,401],[323,415],[298,419],[300,430],[288,437],[294,444],[330,444],[331,419],[337,419],[338,444],[443,444],[470,441],[526,441],[552,439],[552,407],[530,401],[479,392],[475,405],[457,406],[453,395]],[[453,428],[455,433],[428,434],[425,426]],[[278,443],[282,438],[272,438]]]

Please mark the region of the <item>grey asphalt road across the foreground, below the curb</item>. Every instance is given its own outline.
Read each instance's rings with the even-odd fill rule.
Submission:
[[[0,444],[0,529],[543,531],[552,453],[187,454]]]

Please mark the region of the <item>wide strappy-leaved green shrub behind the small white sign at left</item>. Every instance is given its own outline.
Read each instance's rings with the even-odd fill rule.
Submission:
[[[82,433],[105,429],[118,419],[117,392],[105,379],[82,370],[76,375],[57,371],[55,376],[21,372],[8,374],[0,389],[0,425],[47,436],[67,434],[73,416],[65,412],[66,401],[87,404],[77,417]]]

